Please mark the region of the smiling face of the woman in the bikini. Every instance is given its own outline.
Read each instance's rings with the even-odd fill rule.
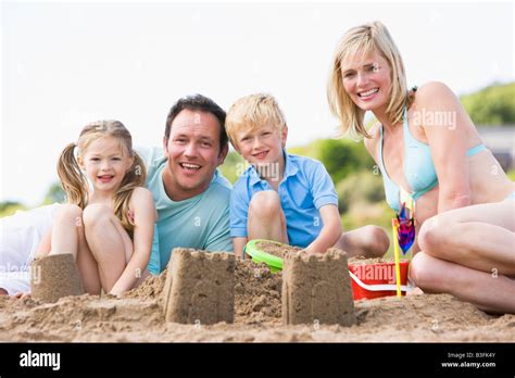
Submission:
[[[391,68],[385,58],[373,52],[357,54],[341,64],[346,92],[364,111],[386,110],[391,90]]]

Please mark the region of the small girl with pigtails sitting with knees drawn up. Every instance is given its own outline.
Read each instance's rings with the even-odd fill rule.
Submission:
[[[118,121],[87,125],[61,153],[58,174],[68,203],[37,255],[72,253],[90,294],[103,289],[120,295],[139,285],[148,275],[158,215],[129,131]]]

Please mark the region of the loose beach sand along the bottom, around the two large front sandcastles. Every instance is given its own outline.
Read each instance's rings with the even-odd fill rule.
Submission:
[[[352,327],[282,326],[281,275],[250,261],[236,266],[235,324],[166,324],[164,279],[149,277],[122,299],[0,297],[0,341],[515,341],[515,315],[487,315],[445,294],[356,301]]]

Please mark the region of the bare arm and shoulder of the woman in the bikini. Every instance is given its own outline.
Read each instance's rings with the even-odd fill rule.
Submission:
[[[420,87],[415,102],[416,111],[426,115],[422,117],[420,125],[438,176],[438,213],[467,206],[470,204],[466,156],[470,118],[456,96],[441,83],[428,83]]]

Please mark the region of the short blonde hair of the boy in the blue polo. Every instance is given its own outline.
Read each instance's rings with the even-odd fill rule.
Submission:
[[[279,133],[286,126],[286,118],[272,94],[256,93],[236,101],[227,111],[225,128],[233,147],[237,148],[236,134],[241,129],[253,131],[272,124]]]

